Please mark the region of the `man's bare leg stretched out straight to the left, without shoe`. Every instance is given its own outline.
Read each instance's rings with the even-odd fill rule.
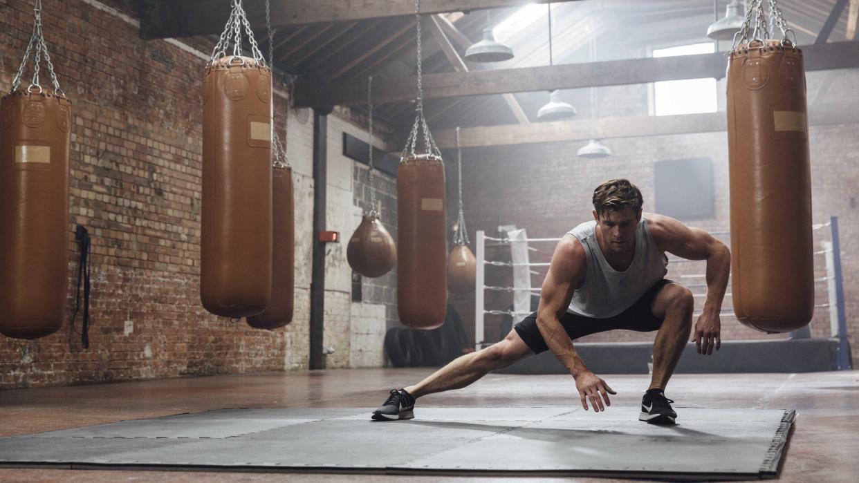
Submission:
[[[415,398],[450,389],[462,389],[490,371],[503,369],[532,354],[519,334],[510,330],[503,341],[454,359],[433,372],[430,377],[404,389]]]

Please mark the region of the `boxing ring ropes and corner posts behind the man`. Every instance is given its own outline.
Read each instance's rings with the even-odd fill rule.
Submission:
[[[824,240],[821,242],[821,250],[814,251],[813,256],[818,257],[820,255],[825,256],[825,271],[826,275],[821,277],[815,277],[815,284],[822,284],[825,282],[826,285],[826,293],[828,295],[828,302],[823,304],[815,304],[815,309],[828,308],[829,309],[829,319],[830,319],[830,331],[832,337],[838,338],[839,340],[839,350],[838,350],[838,368],[846,369],[850,366],[849,361],[849,347],[847,347],[847,329],[846,329],[846,317],[844,315],[844,287],[843,281],[841,277],[841,254],[840,254],[840,246],[838,243],[838,217],[832,216],[829,221],[825,223],[816,223],[812,225],[813,231],[824,230],[828,228],[830,232],[830,239]],[[524,233],[524,232],[522,232]],[[711,235],[718,237],[729,237],[730,232],[710,232]],[[510,317],[514,317],[514,319],[521,318],[522,316],[527,316],[531,313],[531,311],[499,311],[499,310],[487,310],[485,307],[485,292],[506,292],[506,293],[522,293],[527,292],[532,295],[539,295],[540,289],[539,287],[497,287],[497,286],[488,286],[485,285],[485,267],[493,266],[493,267],[548,267],[551,263],[513,263],[513,262],[498,262],[493,260],[486,260],[486,241],[495,242],[500,245],[513,245],[514,243],[545,243],[545,242],[557,242],[561,238],[497,238],[490,237],[486,235],[486,232],[483,230],[478,230],[477,237],[475,240],[475,257],[477,258],[477,273],[475,277],[475,314],[474,314],[474,341],[475,341],[475,349],[479,350],[484,346],[484,317],[487,315],[508,315]],[[532,246],[527,246],[527,251],[539,251],[542,253],[546,253],[545,251],[540,251]],[[673,263],[706,263],[704,260],[686,260],[683,258],[668,258],[669,266]],[[815,263],[816,265],[817,263]],[[539,275],[539,272],[529,270],[529,272],[533,275]],[[682,274],[673,276],[672,278],[679,279],[701,279],[706,277],[706,274]],[[530,283],[529,283],[530,285]],[[687,288],[706,288],[706,283],[691,283],[685,284]],[[706,297],[706,293],[692,293],[692,296],[696,299],[701,299]],[[730,297],[732,294],[730,292],[725,293],[726,297]],[[701,313],[700,310],[696,310],[694,312],[695,315],[699,315]],[[723,317],[735,317],[734,312],[722,312]]]

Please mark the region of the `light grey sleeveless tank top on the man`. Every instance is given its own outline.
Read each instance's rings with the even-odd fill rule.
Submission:
[[[573,293],[569,312],[593,318],[614,317],[665,278],[668,258],[656,246],[644,215],[637,226],[635,257],[623,272],[606,262],[596,239],[596,221],[582,223],[569,233],[582,243],[588,258],[588,273],[582,287]]]

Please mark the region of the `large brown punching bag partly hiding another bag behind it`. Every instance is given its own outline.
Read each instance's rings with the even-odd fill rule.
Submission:
[[[249,57],[206,67],[200,299],[223,317],[271,301],[271,70]]]

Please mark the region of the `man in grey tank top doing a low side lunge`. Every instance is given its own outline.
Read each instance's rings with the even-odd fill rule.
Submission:
[[[576,381],[582,408],[611,406],[617,394],[588,370],[573,340],[612,329],[658,330],[653,344],[653,376],[638,419],[673,424],[677,413],[665,396],[668,379],[690,335],[694,300],[688,288],[665,279],[665,252],[707,261],[707,299],[691,341],[699,354],[719,350],[719,312],[731,255],[722,242],[678,220],[643,216],[641,191],[626,179],[606,181],[594,190],[594,221],[573,228],[558,242],[540,293],[539,307],[515,324],[497,344],[466,354],[420,383],[393,389],[373,413],[374,420],[414,417],[423,395],[460,389],[535,353],[551,350]]]

